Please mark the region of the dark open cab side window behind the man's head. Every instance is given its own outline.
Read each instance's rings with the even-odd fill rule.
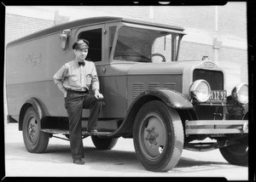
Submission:
[[[90,31],[82,31],[79,38],[84,38],[90,43],[89,52],[86,60],[101,61],[102,60],[102,28]]]

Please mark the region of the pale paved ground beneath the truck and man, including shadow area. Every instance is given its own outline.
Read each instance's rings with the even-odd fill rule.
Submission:
[[[46,153],[26,151],[17,123],[5,122],[5,172],[13,176],[54,177],[224,177],[247,180],[248,168],[230,165],[218,150],[183,150],[168,173],[149,172],[137,160],[132,139],[120,138],[111,151],[97,151],[90,138],[84,139],[85,165],[72,163],[69,142],[52,138]]]

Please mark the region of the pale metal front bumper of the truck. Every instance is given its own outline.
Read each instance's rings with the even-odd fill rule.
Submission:
[[[248,134],[248,120],[187,120],[185,134]]]

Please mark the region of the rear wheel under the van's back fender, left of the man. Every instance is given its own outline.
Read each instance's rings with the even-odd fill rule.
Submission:
[[[33,107],[26,110],[22,124],[23,141],[26,150],[32,153],[42,153],[49,143],[49,134],[41,130],[40,118]]]

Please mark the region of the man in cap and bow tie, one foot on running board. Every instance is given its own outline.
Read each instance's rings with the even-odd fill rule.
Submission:
[[[98,116],[102,110],[103,95],[99,92],[99,80],[93,62],[85,60],[89,42],[79,39],[73,43],[75,60],[69,61],[55,73],[54,81],[64,94],[65,108],[69,119],[69,139],[73,163],[84,164],[84,146],[82,141],[82,111],[90,109],[88,132],[96,134]],[[94,91],[90,95],[89,88]]]

